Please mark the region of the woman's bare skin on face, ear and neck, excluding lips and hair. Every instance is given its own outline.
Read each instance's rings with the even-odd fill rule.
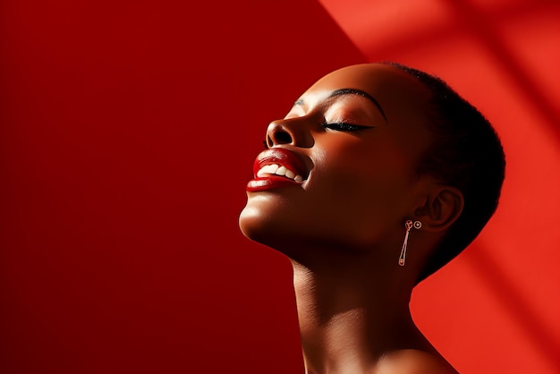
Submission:
[[[395,67],[354,65],[268,126],[267,146],[292,152],[309,176],[248,191],[240,227],[292,261],[308,374],[456,372],[409,310],[425,259],[463,204],[460,191],[416,172],[431,143],[428,100]],[[407,219],[422,228],[401,267]]]

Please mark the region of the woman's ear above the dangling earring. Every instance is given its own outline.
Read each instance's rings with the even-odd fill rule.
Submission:
[[[444,231],[461,215],[464,199],[462,192],[450,186],[437,186],[430,191],[424,205],[414,210],[422,228]]]

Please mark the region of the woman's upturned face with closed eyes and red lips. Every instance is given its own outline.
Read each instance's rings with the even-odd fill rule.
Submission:
[[[430,141],[428,97],[385,64],[319,80],[268,125],[268,149],[247,186],[243,234],[296,259],[306,247],[398,248],[404,221],[426,199],[416,168]]]

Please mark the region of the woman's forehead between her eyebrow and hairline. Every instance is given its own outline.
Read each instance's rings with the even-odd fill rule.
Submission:
[[[331,72],[301,98],[324,96],[337,89],[360,89],[375,98],[389,122],[419,121],[427,113],[429,90],[407,72],[387,64],[358,64]]]

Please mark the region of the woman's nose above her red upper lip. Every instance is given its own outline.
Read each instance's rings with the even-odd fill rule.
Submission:
[[[315,140],[308,126],[298,118],[276,120],[267,128],[268,148],[277,145],[290,144],[295,147],[311,148]]]

